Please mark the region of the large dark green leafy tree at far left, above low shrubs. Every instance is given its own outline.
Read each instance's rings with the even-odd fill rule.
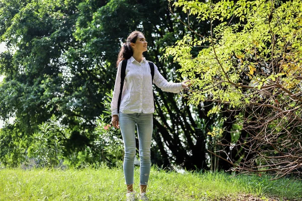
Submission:
[[[16,117],[20,138],[14,143],[26,144],[23,154],[31,143],[28,137],[52,115],[71,128],[64,142],[68,158],[77,158],[94,140],[90,134],[104,109],[100,100],[107,89],[97,82],[103,80],[96,75],[100,69],[85,63],[87,55],[75,52],[83,45],[73,36],[80,2],[1,3],[1,41],[8,47],[0,57],[0,74],[6,76],[0,87],[1,118]],[[10,133],[1,137],[6,135]]]

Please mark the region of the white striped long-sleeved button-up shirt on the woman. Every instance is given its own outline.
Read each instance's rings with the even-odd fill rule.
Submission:
[[[111,101],[111,115],[117,115],[118,96],[121,85],[121,65],[119,63],[114,84],[113,97]],[[182,90],[181,83],[168,82],[154,65],[153,82],[163,91],[178,93]],[[154,97],[150,66],[145,58],[139,63],[133,57],[128,59],[120,113],[154,113]]]

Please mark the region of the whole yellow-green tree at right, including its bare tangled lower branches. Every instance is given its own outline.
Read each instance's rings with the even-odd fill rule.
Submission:
[[[193,80],[189,103],[214,102],[209,115],[230,111],[230,121],[241,122],[235,149],[244,150],[244,160],[232,158],[230,148],[221,150],[225,158],[237,170],[300,172],[301,1],[180,0],[174,6],[211,26],[208,37],[188,34],[166,48],[165,58],[172,55],[178,71]]]

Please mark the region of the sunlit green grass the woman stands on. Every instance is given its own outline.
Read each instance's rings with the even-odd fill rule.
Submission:
[[[135,169],[135,183],[139,183]],[[302,200],[302,182],[152,168],[150,200]],[[138,185],[135,185],[138,191]],[[274,197],[274,198],[272,198]],[[286,198],[285,198],[286,197]],[[1,169],[0,200],[125,200],[121,168]]]

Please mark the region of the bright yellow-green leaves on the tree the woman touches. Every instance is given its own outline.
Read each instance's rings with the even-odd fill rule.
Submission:
[[[268,88],[301,102],[294,95],[302,92],[301,1],[178,1],[174,6],[200,22],[221,21],[211,26],[211,36],[189,34],[165,50],[164,58],[172,55],[182,66],[178,71],[194,80],[190,103],[212,99],[242,107]],[[201,49],[197,56],[191,54],[194,47]]]

